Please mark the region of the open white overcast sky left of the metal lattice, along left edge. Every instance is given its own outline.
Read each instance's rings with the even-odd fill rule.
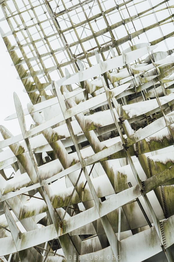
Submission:
[[[0,19],[3,17],[2,10],[0,8]],[[5,30],[4,23],[0,22],[0,26],[3,31]],[[1,79],[1,91],[0,91],[0,124],[6,126],[12,132],[12,134],[20,134],[19,122],[17,119],[4,121],[4,118],[15,113],[13,93],[16,92],[20,98],[23,108],[26,108],[27,103],[30,101],[27,93],[23,92],[24,86],[21,80],[17,79],[18,73],[14,66],[11,66],[12,59],[7,48],[0,37],[0,79]],[[0,134],[0,140],[2,136]]]

